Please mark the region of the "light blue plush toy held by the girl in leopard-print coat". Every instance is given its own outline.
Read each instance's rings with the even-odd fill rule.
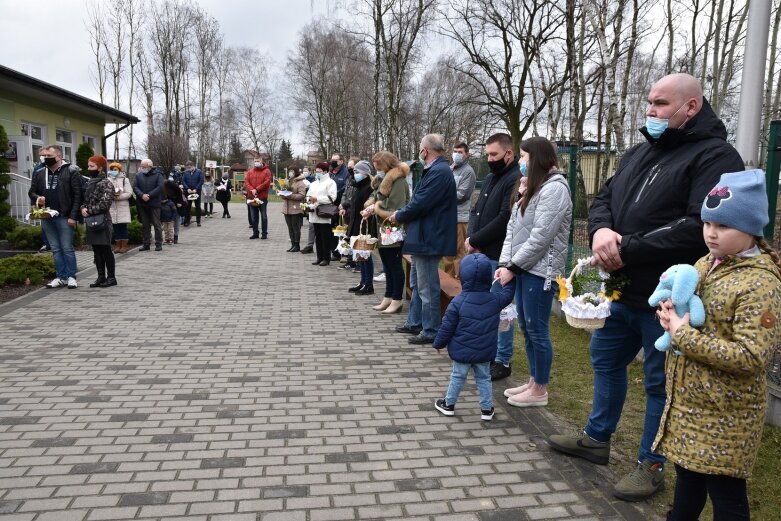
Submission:
[[[700,274],[694,266],[689,264],[670,266],[659,277],[659,284],[648,298],[648,304],[656,307],[667,299],[672,299],[673,307],[679,317],[689,313],[689,323],[694,327],[701,326],[705,323],[705,307],[700,297],[694,294],[699,281]],[[672,338],[667,331],[654,342],[654,347],[659,351],[667,351],[670,345],[672,345]],[[676,351],[676,354],[681,353]]]

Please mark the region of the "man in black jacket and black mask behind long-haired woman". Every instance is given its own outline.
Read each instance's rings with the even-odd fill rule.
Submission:
[[[496,271],[502,244],[510,220],[510,204],[513,190],[517,191],[520,168],[513,153],[513,139],[509,134],[498,133],[485,142],[485,154],[491,172],[483,181],[480,197],[469,214],[469,228],[464,250],[478,250],[491,261]],[[501,290],[496,287],[496,290]],[[501,331],[497,337],[496,360],[491,363],[491,380],[510,376],[510,358],[513,355],[515,327]]]

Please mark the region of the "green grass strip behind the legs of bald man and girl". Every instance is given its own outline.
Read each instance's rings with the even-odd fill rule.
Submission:
[[[515,345],[523,346],[521,333]],[[581,428],[591,411],[594,374],[591,370],[588,344],[590,335],[570,327],[563,319],[551,318],[551,338],[554,359],[551,370],[550,402],[548,409],[571,423],[573,430]],[[523,349],[516,349],[513,357],[513,378],[525,382],[528,364]],[[611,446],[611,470],[619,477],[628,473],[635,465],[637,450],[643,430],[645,414],[645,393],[643,391],[643,370],[639,362],[629,367],[629,392],[621,422],[613,436]],[[675,487],[675,470],[668,467],[665,476],[665,490],[654,496],[650,503],[660,514],[672,504]],[[765,425],[757,464],[753,477],[748,482],[751,518],[754,521],[777,521],[781,519],[781,429]],[[700,519],[712,519],[710,502]]]

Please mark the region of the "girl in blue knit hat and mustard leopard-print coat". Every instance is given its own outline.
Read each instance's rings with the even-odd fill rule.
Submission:
[[[654,450],[675,464],[668,521],[748,520],[746,480],[767,410],[766,367],[781,341],[781,260],[764,238],[765,173],[724,174],[702,204],[710,253],[695,264],[705,324],[668,301],[659,311],[680,355],[667,354],[667,401]]]

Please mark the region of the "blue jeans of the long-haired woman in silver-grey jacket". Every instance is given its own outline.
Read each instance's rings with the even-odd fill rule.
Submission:
[[[522,271],[515,279],[515,305],[518,309],[518,324],[526,341],[526,359],[529,375],[534,382],[548,385],[550,368],[553,364],[553,344],[550,341],[550,311],[553,296],[559,286],[551,282],[545,291],[545,278]]]

